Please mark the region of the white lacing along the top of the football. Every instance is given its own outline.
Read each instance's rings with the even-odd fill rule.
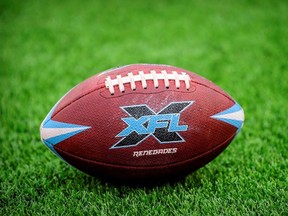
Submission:
[[[154,87],[159,87],[159,80],[164,80],[164,85],[169,88],[170,81],[175,81],[176,88],[180,88],[180,81],[184,81],[186,89],[190,88],[190,77],[188,74],[181,72],[181,74],[176,71],[172,73],[167,73],[166,70],[162,70],[161,73],[156,73],[156,71],[151,70],[150,73],[144,74],[143,71],[138,71],[138,74],[128,73],[127,76],[117,75],[116,79],[111,79],[110,76],[106,77],[105,86],[109,89],[110,93],[113,95],[115,93],[114,86],[118,86],[121,92],[125,92],[124,84],[129,83],[132,90],[136,90],[135,82],[141,82],[142,88],[147,88],[147,80],[153,80]]]

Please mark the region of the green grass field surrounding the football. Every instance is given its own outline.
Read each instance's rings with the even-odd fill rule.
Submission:
[[[1,1],[0,215],[288,215],[287,1]],[[245,111],[214,161],[131,188],[53,155],[39,125],[84,79],[130,63],[212,80]]]

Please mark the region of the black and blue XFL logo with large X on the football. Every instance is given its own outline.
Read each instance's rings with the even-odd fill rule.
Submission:
[[[185,142],[179,132],[188,125],[179,125],[180,114],[194,101],[172,102],[155,113],[146,104],[121,107],[130,117],[122,118],[127,127],[116,137],[123,137],[111,148],[132,147],[149,136],[159,143]]]

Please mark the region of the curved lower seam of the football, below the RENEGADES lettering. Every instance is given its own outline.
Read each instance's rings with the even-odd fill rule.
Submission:
[[[77,159],[80,159],[80,160],[84,160],[88,163],[96,163],[98,165],[104,165],[104,166],[113,166],[114,168],[118,167],[118,168],[131,168],[131,169],[150,169],[150,168],[156,168],[156,169],[161,169],[161,168],[167,168],[169,166],[177,166],[177,165],[181,165],[183,163],[186,163],[186,162],[189,162],[191,160],[195,160],[197,158],[200,158],[202,156],[205,156],[206,154],[209,154],[210,152],[214,151],[215,149],[221,147],[223,144],[226,144],[227,141],[230,140],[230,142],[232,142],[232,140],[236,137],[237,134],[233,134],[232,136],[230,136],[228,139],[226,139],[225,141],[221,142],[219,145],[213,147],[212,149],[210,149],[209,151],[206,151],[204,153],[202,153],[201,155],[197,155],[193,158],[189,158],[187,160],[184,160],[184,161],[179,161],[179,162],[176,162],[176,163],[169,163],[169,164],[165,164],[165,165],[155,165],[155,166],[128,166],[128,165],[118,165],[118,164],[113,164],[113,163],[105,163],[105,162],[100,162],[100,161],[93,161],[93,160],[90,160],[90,159],[87,159],[87,158],[82,158],[82,157],[79,157],[79,156],[76,156],[76,155],[73,155],[69,152],[66,152],[62,149],[59,149],[57,148],[57,146],[55,146],[55,150],[59,150],[59,151],[62,151],[64,152],[65,154],[68,154],[70,155],[71,157],[74,157],[74,158],[77,158]],[[58,152],[59,154],[59,152]]]

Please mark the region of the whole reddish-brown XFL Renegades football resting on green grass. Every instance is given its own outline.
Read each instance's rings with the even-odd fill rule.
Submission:
[[[58,157],[92,176],[153,182],[213,160],[243,121],[240,105],[211,81],[173,66],[133,64],[71,89],[40,134]]]

